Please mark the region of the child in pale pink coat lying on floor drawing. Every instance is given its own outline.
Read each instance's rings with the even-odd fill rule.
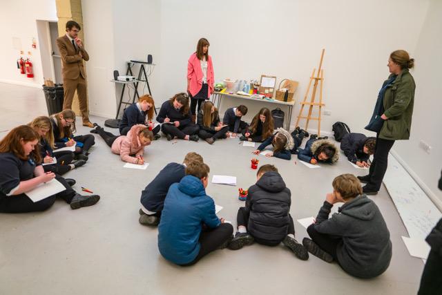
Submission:
[[[127,135],[113,135],[97,124],[90,132],[98,133],[113,153],[119,155],[122,161],[132,164],[144,164],[144,146],[148,146],[153,140],[152,131],[142,124],[132,126]]]

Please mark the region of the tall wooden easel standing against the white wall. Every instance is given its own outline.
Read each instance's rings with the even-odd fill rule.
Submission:
[[[320,136],[320,113],[322,111],[322,107],[325,106],[325,104],[323,104],[324,70],[322,69],[324,53],[325,53],[325,49],[323,49],[323,53],[320,55],[319,68],[318,68],[318,72],[317,72],[318,77],[315,77],[316,68],[314,68],[313,73],[311,73],[309,86],[307,88],[307,92],[305,93],[304,101],[300,103],[301,109],[299,111],[298,120],[296,120],[296,125],[295,125],[295,127],[299,126],[300,119],[307,119],[307,122],[305,123],[305,130],[307,130],[307,128],[309,127],[310,120],[318,120],[318,136]],[[307,97],[309,96],[311,82],[313,80],[314,80],[314,86],[313,86],[313,91],[311,93],[311,99],[310,99],[310,102],[307,102]],[[318,84],[320,84],[319,102],[315,102],[316,89],[318,88]],[[302,111],[304,111],[304,106],[306,104],[309,105],[309,113],[307,116],[303,116]],[[313,110],[313,106],[319,106],[318,117],[311,117],[311,111]]]

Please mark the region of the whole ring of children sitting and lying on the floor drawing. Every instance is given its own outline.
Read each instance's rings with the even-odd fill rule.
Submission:
[[[196,124],[189,111],[189,97],[178,93],[164,102],[153,123],[155,104],[150,95],[126,108],[119,125],[120,135],[114,135],[97,125],[90,132],[100,135],[113,153],[124,162],[144,164],[144,148],[160,138],[161,130],[168,140],[198,141],[209,144],[215,140],[239,136],[240,140],[262,142],[260,153],[271,144],[267,156],[290,160],[292,154],[310,164],[335,163],[338,148],[327,139],[311,135],[305,148],[302,140],[307,131],[296,128],[273,130],[273,118],[268,108],[262,108],[251,124],[242,121],[247,107],[229,108],[221,122],[218,109],[205,102]],[[75,113],[64,110],[50,117],[40,116],[28,125],[12,129],[0,142],[0,212],[19,213],[43,211],[59,197],[72,209],[91,206],[99,196],[81,196],[71,187],[75,180],[62,178],[72,169],[88,161],[93,135],[74,135]],[[343,137],[340,148],[350,162],[368,166],[374,153],[376,139],[360,133]],[[73,151],[57,151],[75,146]],[[46,165],[41,165],[46,164]],[[392,255],[390,234],[376,204],[362,194],[361,184],[354,175],[335,178],[321,207],[316,222],[307,232],[311,239],[295,240],[294,221],[289,211],[291,192],[273,165],[263,165],[257,173],[257,182],[249,188],[245,207],[238,209],[238,231],[215,214],[215,203],[206,195],[209,166],[197,153],[188,153],[182,163],[169,163],[142,191],[140,223],[158,225],[158,247],[164,258],[177,265],[192,265],[215,249],[241,249],[253,242],[275,246],[281,242],[301,260],[308,252],[332,262],[336,260],[346,272],[361,278],[378,276],[387,269]],[[39,184],[56,179],[65,191],[32,202],[26,196]],[[338,214],[329,218],[336,202],[345,203]]]

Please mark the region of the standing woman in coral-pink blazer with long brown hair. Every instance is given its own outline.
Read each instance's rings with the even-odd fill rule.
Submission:
[[[201,38],[196,52],[189,57],[187,64],[187,93],[191,96],[192,121],[195,123],[196,113],[201,104],[213,93],[213,64],[209,55],[209,41]],[[196,106],[198,104],[198,111]]]

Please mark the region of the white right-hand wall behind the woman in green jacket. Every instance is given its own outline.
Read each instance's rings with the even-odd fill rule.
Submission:
[[[414,178],[420,180],[421,187],[428,195],[439,200],[439,208],[442,207],[442,192],[437,188],[442,169],[441,16],[442,1],[432,0],[414,49],[416,69],[412,75],[416,80],[416,95],[410,140],[394,144],[394,151],[402,160],[401,164]],[[430,153],[419,146],[421,140],[432,146]]]

